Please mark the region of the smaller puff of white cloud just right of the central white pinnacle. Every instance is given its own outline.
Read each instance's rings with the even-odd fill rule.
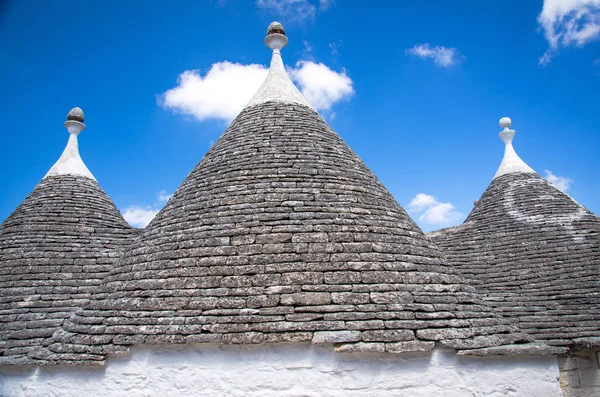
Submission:
[[[352,79],[345,70],[338,73],[322,63],[299,61],[288,73],[298,82],[306,100],[318,110],[329,110],[336,102],[354,94]]]

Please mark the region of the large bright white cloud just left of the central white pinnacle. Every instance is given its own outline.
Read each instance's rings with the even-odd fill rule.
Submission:
[[[262,65],[214,63],[205,76],[198,70],[179,75],[177,86],[159,97],[159,104],[200,121],[216,118],[231,121],[243,109],[267,77]]]

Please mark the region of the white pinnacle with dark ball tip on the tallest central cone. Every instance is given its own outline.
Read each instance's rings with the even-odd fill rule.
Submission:
[[[312,108],[285,71],[281,59],[281,49],[287,43],[288,39],[283,26],[279,22],[272,22],[267,29],[267,37],[265,37],[265,44],[273,50],[269,74],[246,107],[265,102],[280,102],[295,103]]]

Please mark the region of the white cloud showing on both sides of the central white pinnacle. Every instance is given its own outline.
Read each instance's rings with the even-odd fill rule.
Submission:
[[[267,73],[262,65],[227,61],[213,64],[205,76],[187,70],[177,79],[176,87],[159,96],[158,103],[200,121],[215,118],[229,122],[252,99]],[[354,94],[352,79],[345,70],[336,72],[322,63],[300,61],[295,68],[288,68],[288,73],[317,110],[329,110]]]

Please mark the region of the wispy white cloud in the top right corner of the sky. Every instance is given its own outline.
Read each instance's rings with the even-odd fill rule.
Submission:
[[[539,59],[546,65],[560,47],[600,37],[600,0],[544,0],[538,23],[550,46]]]

